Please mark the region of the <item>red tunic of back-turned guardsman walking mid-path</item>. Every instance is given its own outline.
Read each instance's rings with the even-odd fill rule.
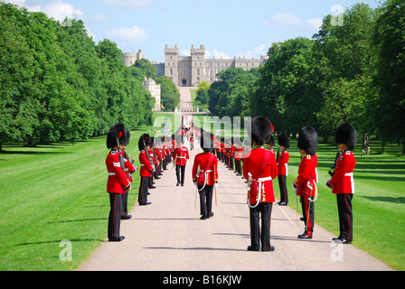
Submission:
[[[205,182],[208,186],[213,186],[215,182],[218,182],[218,159],[215,155],[203,153],[195,156],[193,182],[197,182],[198,185],[203,185]]]

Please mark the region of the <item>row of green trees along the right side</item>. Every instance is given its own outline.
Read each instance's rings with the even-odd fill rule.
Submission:
[[[274,43],[258,70],[222,71],[207,90],[212,113],[262,115],[293,135],[310,125],[325,140],[349,121],[359,134],[404,144],[405,2],[357,4],[334,17],[312,40]]]

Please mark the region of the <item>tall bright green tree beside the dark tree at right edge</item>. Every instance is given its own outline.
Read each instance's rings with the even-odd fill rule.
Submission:
[[[314,59],[323,107],[316,113],[322,135],[333,135],[337,125],[351,121],[358,132],[373,133],[372,104],[375,90],[370,79],[375,59],[371,44],[375,12],[356,4],[344,12],[343,24],[324,18],[314,35]],[[344,113],[343,113],[344,112]]]

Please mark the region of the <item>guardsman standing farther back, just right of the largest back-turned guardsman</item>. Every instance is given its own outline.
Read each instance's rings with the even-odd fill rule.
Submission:
[[[278,165],[278,187],[280,188],[280,201],[279,206],[287,206],[288,204],[288,191],[287,191],[287,176],[288,176],[288,161],[289,154],[287,149],[290,143],[287,135],[278,135],[278,147],[281,153],[277,157]]]

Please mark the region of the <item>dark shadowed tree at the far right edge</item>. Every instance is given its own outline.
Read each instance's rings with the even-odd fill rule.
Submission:
[[[384,140],[402,144],[405,154],[405,3],[381,5],[372,34],[378,47],[374,84],[379,91],[375,124]]]

